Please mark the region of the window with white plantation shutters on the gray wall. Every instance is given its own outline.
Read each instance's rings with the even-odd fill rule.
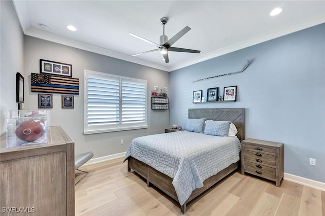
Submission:
[[[84,134],[147,128],[147,81],[84,70]]]

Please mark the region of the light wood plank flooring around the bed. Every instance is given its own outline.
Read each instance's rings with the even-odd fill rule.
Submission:
[[[183,215],[177,202],[148,188],[127,162],[115,159],[83,166],[90,173],[76,187],[76,215]],[[76,181],[81,174],[76,174]],[[234,172],[185,215],[325,215],[325,192],[283,180],[273,182]]]

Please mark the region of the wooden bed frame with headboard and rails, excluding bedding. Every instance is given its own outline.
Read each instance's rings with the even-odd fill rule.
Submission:
[[[243,140],[245,138],[245,130],[244,130],[244,109],[243,108],[234,108],[234,109],[189,109],[188,110],[188,118],[189,119],[200,119],[206,118],[208,120],[214,121],[231,121],[236,125],[238,130],[237,137],[239,140]],[[239,153],[240,155],[240,153]],[[217,174],[209,177],[203,182],[203,187],[198,188],[192,191],[189,198],[186,202],[181,205],[181,211],[184,214],[187,210],[187,206],[192,204],[194,198],[197,198],[199,195],[204,193],[210,187],[218,183],[225,176],[229,175],[233,171],[237,170],[240,167],[240,160],[236,163],[231,164],[229,167],[221,170]],[[161,191],[169,195],[171,198],[178,202],[177,194],[172,184],[173,178],[165,175],[152,168],[151,166],[133,158],[128,157],[127,159],[127,171],[131,171],[133,169],[139,175],[144,177],[147,180],[147,186],[150,187],[150,183],[155,187],[159,188]]]

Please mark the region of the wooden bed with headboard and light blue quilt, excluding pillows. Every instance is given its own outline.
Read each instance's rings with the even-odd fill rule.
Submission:
[[[182,213],[195,198],[240,167],[240,141],[244,139],[243,108],[189,109],[188,119],[230,121],[238,130],[237,137],[188,131],[138,137],[124,159],[128,171],[133,169],[147,180],[148,187],[152,184],[179,202]]]

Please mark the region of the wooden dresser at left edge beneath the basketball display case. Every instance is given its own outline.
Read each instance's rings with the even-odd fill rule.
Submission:
[[[0,215],[75,215],[74,141],[61,127],[46,144],[0,145]]]

